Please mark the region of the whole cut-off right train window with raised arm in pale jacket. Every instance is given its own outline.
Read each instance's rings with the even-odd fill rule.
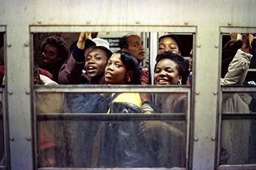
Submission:
[[[241,32],[222,34],[218,169],[250,168],[256,163],[255,77],[247,75],[254,71],[255,34]]]

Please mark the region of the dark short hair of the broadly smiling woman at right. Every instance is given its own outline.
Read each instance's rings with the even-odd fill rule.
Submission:
[[[185,61],[185,59],[178,54],[172,53],[171,51],[163,52],[162,54],[157,55],[155,69],[157,68],[157,63],[159,63],[159,61],[162,59],[170,59],[171,61],[177,63],[178,74],[182,78],[181,84],[187,84],[187,77],[190,75],[190,71],[188,70],[188,63]]]

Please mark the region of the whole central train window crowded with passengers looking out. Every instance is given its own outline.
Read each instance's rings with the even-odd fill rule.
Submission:
[[[187,56],[190,55],[194,44],[194,28],[191,29],[191,33],[178,32],[176,29],[173,29],[174,33],[167,31],[158,33],[138,31],[132,33],[131,31],[54,33],[38,32],[41,29],[36,27],[31,30],[36,31],[32,33],[32,38],[34,84],[36,84],[34,86],[34,116],[37,127],[34,150],[38,155],[36,160],[38,168],[180,167],[187,169],[192,116],[191,89],[190,86],[186,86],[189,85],[187,76],[190,72],[185,59],[188,59]],[[123,42],[125,39],[122,36],[127,33],[132,36],[129,39],[129,43],[132,42],[131,48]],[[137,36],[134,36],[134,33]],[[185,72],[180,70],[185,77],[171,75],[172,78],[164,79],[159,75],[158,78],[154,76],[154,72],[160,72],[162,69],[162,66],[159,66],[161,60],[163,60],[162,65],[170,64],[161,59],[157,61],[159,65],[155,70],[157,53],[162,53],[158,48],[158,38],[164,35],[180,39],[180,42],[176,44],[184,43],[183,50],[177,53],[185,57],[185,59],[181,57],[182,62],[179,63],[186,68]],[[73,61],[76,58],[72,55],[76,55],[79,51],[76,40],[81,36],[90,37],[90,40],[88,38],[84,41],[83,47],[91,46],[88,51],[83,52],[83,59],[79,61],[82,63],[79,66],[81,70],[84,67],[87,70],[86,74],[90,77],[90,82],[88,79],[87,82],[59,82],[60,74],[56,74],[58,77],[56,79],[54,72],[57,62],[52,69],[49,69],[50,65],[45,67],[45,63],[50,63],[51,56],[58,54],[57,48],[50,47],[47,42],[51,41],[52,37],[52,41],[59,42],[60,46],[66,42],[65,50],[68,50],[66,50],[67,57],[64,62],[69,63],[69,56],[73,57]],[[101,43],[103,48],[94,47],[97,43]],[[133,65],[127,67],[127,61],[124,60],[129,59],[129,53],[120,52],[113,56],[109,53],[119,50],[120,44],[123,45],[125,52],[130,52],[136,57],[135,61],[134,58],[129,61],[135,62]],[[182,49],[181,46],[179,47]],[[134,50],[136,48],[138,50]],[[169,50],[176,53],[173,49]],[[100,66],[90,65],[89,63],[96,62],[97,57],[101,58]],[[95,60],[92,61],[92,59]],[[104,63],[105,66],[102,63],[104,59],[108,60]],[[57,69],[62,70],[61,66]],[[105,67],[108,72],[106,82],[108,81],[107,83],[111,85],[102,85],[102,82],[99,82],[99,76],[95,76],[99,74],[97,73],[99,71],[104,72],[105,69],[102,68]],[[112,79],[111,77],[115,74],[122,72],[114,72],[114,74],[111,67],[125,68],[129,72],[133,70],[131,74],[128,72],[122,75],[125,79],[120,79],[120,77]],[[47,72],[42,72],[42,68],[52,72],[52,77],[49,77]],[[147,74],[151,73],[151,76],[148,75],[147,82],[143,86],[134,86],[136,84],[134,81],[138,79],[137,75],[140,75],[135,72],[143,69],[148,69]],[[174,69],[171,72],[176,71]],[[44,82],[46,79],[48,82]],[[169,79],[173,79],[173,82]],[[72,81],[77,80],[78,77],[72,79]],[[155,84],[166,86],[146,85],[154,85],[154,80]],[[41,84],[48,86],[39,86]],[[184,86],[168,86],[168,84],[183,84]]]

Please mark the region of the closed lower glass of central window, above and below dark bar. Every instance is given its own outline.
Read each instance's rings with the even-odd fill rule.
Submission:
[[[46,115],[141,114],[139,93],[36,95],[36,112]],[[44,96],[48,100],[43,100]],[[149,96],[155,113],[183,113],[183,117],[171,121],[120,121],[115,117],[95,121],[94,115],[82,115],[72,121],[39,121],[39,167],[185,167],[187,96]]]

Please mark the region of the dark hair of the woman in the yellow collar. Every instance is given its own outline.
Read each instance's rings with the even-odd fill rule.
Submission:
[[[115,53],[121,55],[121,61],[125,65],[127,71],[133,72],[131,82],[128,82],[128,84],[141,84],[141,67],[138,65],[138,61],[136,60],[135,56],[123,50],[119,50]]]

